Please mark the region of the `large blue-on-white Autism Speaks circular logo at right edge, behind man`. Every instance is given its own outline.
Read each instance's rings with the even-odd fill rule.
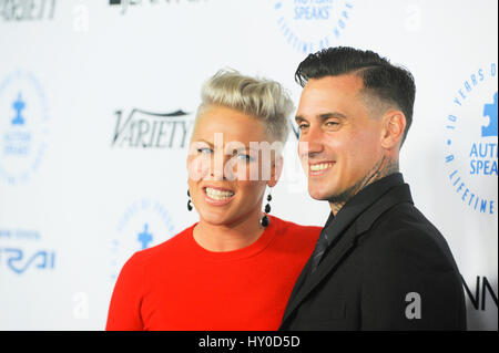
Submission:
[[[446,121],[448,180],[470,210],[497,216],[497,63],[479,68],[457,90]]]

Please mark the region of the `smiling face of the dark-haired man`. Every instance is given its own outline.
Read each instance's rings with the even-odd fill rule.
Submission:
[[[342,199],[383,157],[383,120],[370,116],[361,89],[361,77],[344,74],[309,80],[303,90],[298,155],[315,199]]]

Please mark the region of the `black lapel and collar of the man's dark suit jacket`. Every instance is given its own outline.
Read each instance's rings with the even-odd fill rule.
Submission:
[[[401,203],[413,203],[409,186],[401,184],[380,197],[376,203],[368,207],[355,220],[344,224],[342,227],[332,228],[329,231],[339,235],[337,243],[326,253],[319,263],[315,273],[309,273],[309,262],[305,266],[299,276],[288,305],[283,316],[283,323],[297,309],[302,301],[330,273],[333,273],[338,264],[348,257],[355,249],[360,235],[365,233],[373,226],[376,219],[385,211]]]

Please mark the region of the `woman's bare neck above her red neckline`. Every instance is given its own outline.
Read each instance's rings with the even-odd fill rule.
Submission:
[[[214,225],[203,219],[194,227],[194,240],[208,251],[233,251],[255,242],[265,228],[259,220],[263,214],[256,209],[230,225]]]

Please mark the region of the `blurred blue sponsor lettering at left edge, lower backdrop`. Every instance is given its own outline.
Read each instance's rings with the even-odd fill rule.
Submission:
[[[52,270],[55,267],[55,251],[40,249],[26,241],[39,241],[38,231],[30,230],[0,230],[0,239],[3,243],[11,245],[0,247],[0,268],[6,267],[17,274],[30,271]],[[23,243],[23,246],[20,246]]]

